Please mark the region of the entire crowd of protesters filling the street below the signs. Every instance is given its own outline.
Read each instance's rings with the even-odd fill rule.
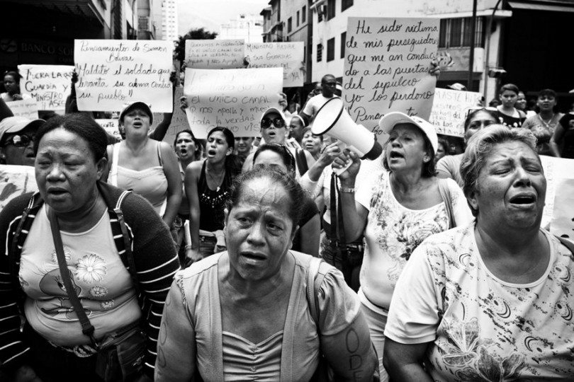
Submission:
[[[541,227],[540,156],[574,158],[555,91],[527,110],[503,85],[468,109],[456,155],[390,112],[383,154],[361,161],[310,129],[341,96],[330,74],[257,115],[260,137],[169,144],[171,113],[152,131],[138,100],[107,134],[76,76],[66,115],[14,117],[18,79],[1,160],[33,166],[38,191],[0,212],[0,379],[573,378],[574,245]]]

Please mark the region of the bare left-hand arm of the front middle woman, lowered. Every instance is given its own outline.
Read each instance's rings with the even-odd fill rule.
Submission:
[[[159,337],[162,340],[157,344],[154,381],[192,381],[196,370],[196,332],[184,306],[183,291],[176,281],[171,284],[165,301]]]

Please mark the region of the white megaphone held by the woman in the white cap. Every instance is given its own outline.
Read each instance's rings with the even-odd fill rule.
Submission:
[[[352,120],[339,97],[331,98],[317,111],[311,132],[339,139],[361,159],[373,161],[383,152],[375,134]]]

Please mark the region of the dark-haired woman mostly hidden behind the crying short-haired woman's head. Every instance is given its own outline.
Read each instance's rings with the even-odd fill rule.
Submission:
[[[468,143],[475,132],[498,123],[498,115],[494,108],[480,108],[468,110],[464,120],[464,145]],[[463,154],[447,155],[437,162],[437,177],[451,178],[462,188],[464,181],[461,178],[461,161]]]

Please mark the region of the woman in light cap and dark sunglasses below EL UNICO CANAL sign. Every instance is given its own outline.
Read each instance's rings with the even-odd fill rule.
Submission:
[[[261,116],[261,137],[263,138],[266,144],[281,144],[284,145],[285,141],[287,140],[288,135],[288,127],[285,119],[285,115],[283,112],[278,108],[269,108],[265,110],[263,115]],[[291,154],[296,157],[296,149],[292,147],[288,147]],[[305,159],[307,159],[307,168],[313,166],[315,163],[315,159],[313,156],[308,153],[308,151],[303,151],[305,154]],[[245,159],[243,163],[243,172],[251,170],[253,167],[253,154],[250,154]],[[298,163],[296,163],[296,171],[295,171],[296,178],[299,179],[300,170]]]

